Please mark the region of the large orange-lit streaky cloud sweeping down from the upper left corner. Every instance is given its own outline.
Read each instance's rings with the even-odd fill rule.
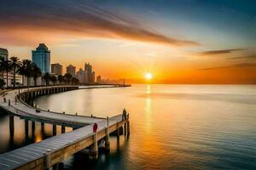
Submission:
[[[198,42],[167,37],[143,26],[143,20],[131,19],[125,14],[113,14],[91,3],[93,1],[3,0],[0,6],[0,39],[13,43],[33,42],[43,32],[45,39],[51,37],[53,41],[58,40],[55,36],[62,36],[62,39],[75,36],[116,38],[172,46],[199,45]],[[30,35],[20,34],[20,31],[28,31]]]

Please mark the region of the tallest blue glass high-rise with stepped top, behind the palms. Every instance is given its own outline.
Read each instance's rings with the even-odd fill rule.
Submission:
[[[42,73],[50,72],[50,51],[44,43],[39,43],[36,50],[32,50],[32,62],[38,65]]]

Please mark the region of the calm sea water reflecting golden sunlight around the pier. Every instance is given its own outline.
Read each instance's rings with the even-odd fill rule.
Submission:
[[[111,138],[110,154],[91,163],[83,154],[65,168],[80,169],[256,169],[256,86],[134,85],[131,88],[84,89],[43,96],[40,108],[81,115],[131,114],[129,139]],[[40,141],[51,126],[24,135],[15,119],[0,116],[0,151]],[[58,128],[60,133],[60,127]],[[67,129],[68,130],[68,129]]]

